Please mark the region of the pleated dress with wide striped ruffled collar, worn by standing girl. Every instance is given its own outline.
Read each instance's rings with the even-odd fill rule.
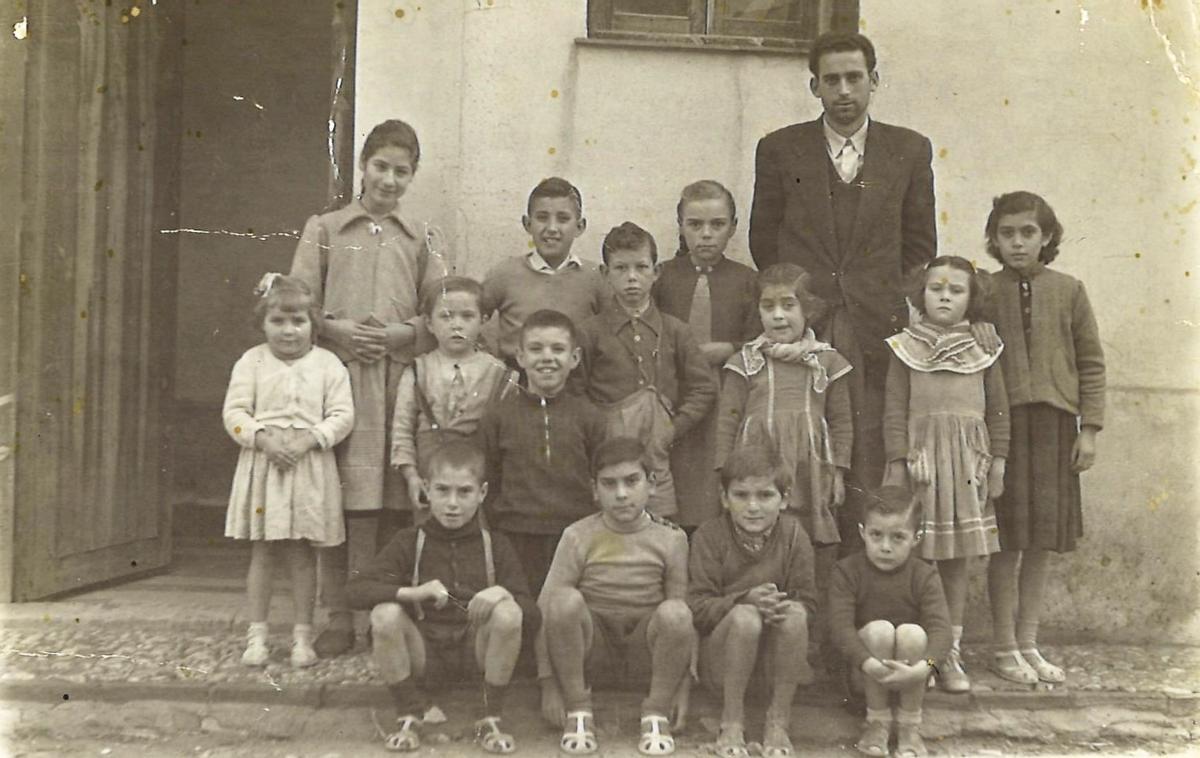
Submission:
[[[907,462],[920,503],[920,555],[946,560],[998,552],[988,471],[992,457],[1008,455],[1000,354],[984,351],[966,325],[913,324],[887,343],[894,357],[884,441],[889,461]]]

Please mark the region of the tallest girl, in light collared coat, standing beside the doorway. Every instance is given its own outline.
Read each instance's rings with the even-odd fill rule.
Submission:
[[[316,645],[322,656],[354,645],[349,567],[370,560],[414,507],[403,479],[388,467],[392,409],[400,375],[413,360],[421,294],[450,273],[445,251],[431,249],[427,228],[400,213],[420,158],[408,124],[390,120],[371,130],[359,158],[361,194],[310,218],[292,261],[292,275],[322,303],[322,333],[349,371],[356,414],[354,432],[337,449],[347,542],[320,554],[329,610],[329,628]]]

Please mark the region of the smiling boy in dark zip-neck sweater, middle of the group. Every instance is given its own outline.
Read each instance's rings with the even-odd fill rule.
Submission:
[[[558,311],[535,311],[521,326],[517,362],[527,391],[512,392],[484,415],[487,521],[512,542],[533,592],[541,591],[558,537],[595,512],[592,453],[604,417],[587,397],[566,391],[580,363],[575,326]]]

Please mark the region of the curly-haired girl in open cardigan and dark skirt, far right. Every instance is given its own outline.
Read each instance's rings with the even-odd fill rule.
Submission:
[[[1032,192],[992,201],[988,253],[991,314],[1008,345],[1001,359],[1013,441],[1004,494],[996,503],[1001,552],[988,566],[994,670],[1012,681],[1061,682],[1063,670],[1038,649],[1051,553],[1082,536],[1079,475],[1096,461],[1104,425],[1104,350],[1084,284],[1049,264],[1062,224]]]

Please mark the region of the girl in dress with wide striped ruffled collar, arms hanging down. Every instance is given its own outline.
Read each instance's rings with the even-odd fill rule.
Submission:
[[[962,619],[970,559],[1000,549],[991,498],[1004,487],[1004,378],[972,335],[983,306],[971,261],[942,255],[920,271],[910,300],[922,320],[888,337],[883,445],[888,481],[911,480],[922,513],[920,555],[935,561],[950,612],[950,651],[937,666],[947,692],[966,692]]]

